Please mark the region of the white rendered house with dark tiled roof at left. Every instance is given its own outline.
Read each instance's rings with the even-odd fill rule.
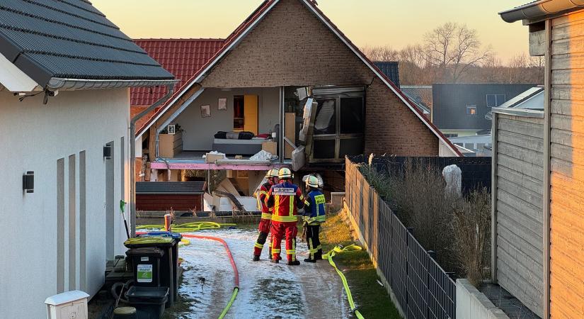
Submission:
[[[88,1],[0,0],[0,16],[0,317],[46,318],[125,252],[128,88],[173,76]]]

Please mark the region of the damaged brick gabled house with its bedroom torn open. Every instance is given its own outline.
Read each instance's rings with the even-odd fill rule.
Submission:
[[[318,106],[305,115],[307,87]],[[335,171],[342,169],[345,155],[460,155],[309,0],[264,1],[137,132],[137,139],[149,158],[145,167],[156,170],[147,174],[154,179],[168,179],[167,170],[173,180],[181,170],[230,170],[241,178],[243,185],[235,183],[239,191],[247,194],[265,170],[292,164],[293,149],[285,138],[301,145],[304,116],[311,127],[303,170],[322,172],[327,183],[339,180],[339,189],[344,184]],[[173,130],[178,137],[166,136]],[[232,140],[218,131],[275,139]],[[202,158],[212,150],[229,158]],[[279,159],[250,160],[258,150],[270,150]]]

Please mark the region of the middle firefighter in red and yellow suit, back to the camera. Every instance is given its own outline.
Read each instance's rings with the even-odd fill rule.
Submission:
[[[297,266],[300,262],[296,259],[296,235],[298,234],[298,209],[304,207],[304,196],[300,188],[292,184],[292,172],[282,168],[278,172],[280,184],[272,186],[268,191],[266,205],[273,208],[272,214],[272,260],[279,262],[280,244],[282,237],[286,237],[287,264]]]

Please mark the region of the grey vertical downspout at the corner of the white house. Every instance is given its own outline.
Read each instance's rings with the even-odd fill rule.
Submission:
[[[151,111],[154,111],[155,108],[161,106],[171,98],[174,93],[174,84],[176,81],[168,82],[166,84],[168,88],[166,95],[144,111],[140,112],[137,116],[134,116],[130,121],[130,223],[132,227],[132,237],[136,235],[136,139],[134,138],[136,135],[136,123],[140,118],[143,118]]]

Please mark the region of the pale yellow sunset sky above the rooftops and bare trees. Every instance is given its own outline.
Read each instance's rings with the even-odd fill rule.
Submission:
[[[132,38],[224,38],[261,0],[91,0]],[[317,0],[319,8],[359,46],[399,49],[452,21],[479,31],[502,60],[527,52],[527,27],[498,11],[528,0]]]

